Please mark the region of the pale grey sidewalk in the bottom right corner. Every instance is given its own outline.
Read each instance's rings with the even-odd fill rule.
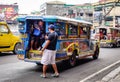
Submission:
[[[120,82],[120,66],[96,82]]]

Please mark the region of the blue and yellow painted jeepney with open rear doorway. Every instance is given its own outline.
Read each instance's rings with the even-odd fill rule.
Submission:
[[[18,50],[18,58],[27,62],[40,64],[41,51],[30,50],[31,28],[35,21],[44,22],[44,33],[48,32],[48,25],[54,24],[58,33],[56,61],[69,60],[74,66],[77,58],[99,55],[99,42],[90,39],[92,23],[59,16],[25,16],[19,17],[19,31],[23,41]],[[40,43],[40,42],[39,42]]]

